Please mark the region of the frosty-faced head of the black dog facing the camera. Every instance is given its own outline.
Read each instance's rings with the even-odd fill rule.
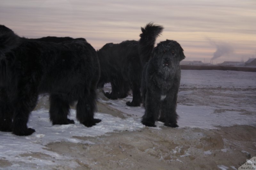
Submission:
[[[163,70],[176,70],[180,61],[185,59],[183,49],[177,41],[166,40],[157,44],[154,52],[158,68]]]

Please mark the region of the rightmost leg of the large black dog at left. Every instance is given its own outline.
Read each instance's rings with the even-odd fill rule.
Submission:
[[[92,88],[90,91],[86,90],[84,96],[78,100],[76,105],[76,118],[86,127],[91,127],[96,123],[101,122],[100,119],[94,118],[94,112],[96,111],[96,87]]]

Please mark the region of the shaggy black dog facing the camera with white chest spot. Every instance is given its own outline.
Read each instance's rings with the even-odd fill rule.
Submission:
[[[145,43],[140,46],[153,51],[152,46]],[[166,40],[158,43],[151,55],[153,57],[142,73],[141,91],[145,114],[141,123],[155,127],[155,121],[159,120],[165,126],[178,127],[176,106],[180,86],[180,61],[185,58],[183,49],[178,42]]]

